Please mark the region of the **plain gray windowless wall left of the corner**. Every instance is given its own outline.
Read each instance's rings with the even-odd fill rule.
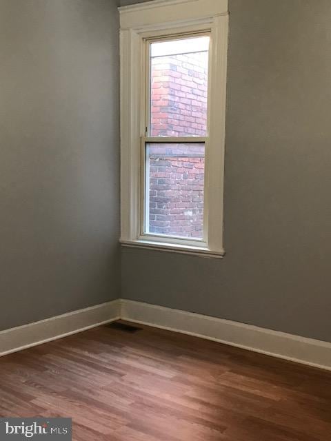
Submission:
[[[119,295],[112,0],[0,0],[0,329]]]

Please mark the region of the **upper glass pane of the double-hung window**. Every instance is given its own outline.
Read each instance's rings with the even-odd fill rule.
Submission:
[[[150,136],[206,136],[209,43],[151,43]]]

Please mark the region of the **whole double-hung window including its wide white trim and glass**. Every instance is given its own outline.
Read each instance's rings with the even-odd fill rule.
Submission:
[[[228,4],[121,12],[121,243],[223,255]]]

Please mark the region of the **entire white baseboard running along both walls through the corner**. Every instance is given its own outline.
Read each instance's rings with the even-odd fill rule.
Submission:
[[[0,331],[0,356],[114,320],[150,325],[331,371],[331,343],[178,309],[118,299]]]

